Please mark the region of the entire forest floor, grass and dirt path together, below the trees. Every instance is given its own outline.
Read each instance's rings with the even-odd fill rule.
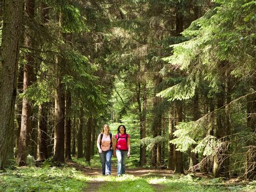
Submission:
[[[128,162],[129,163],[129,162]],[[52,164],[19,167],[15,164],[0,171],[0,191],[118,191],[118,192],[251,192],[256,191],[256,180],[241,177],[226,180],[210,174],[174,174],[166,169],[146,169],[127,164],[126,174],[117,177],[116,159],[112,162],[111,176],[102,176],[99,157]],[[98,167],[98,168],[97,168]]]

